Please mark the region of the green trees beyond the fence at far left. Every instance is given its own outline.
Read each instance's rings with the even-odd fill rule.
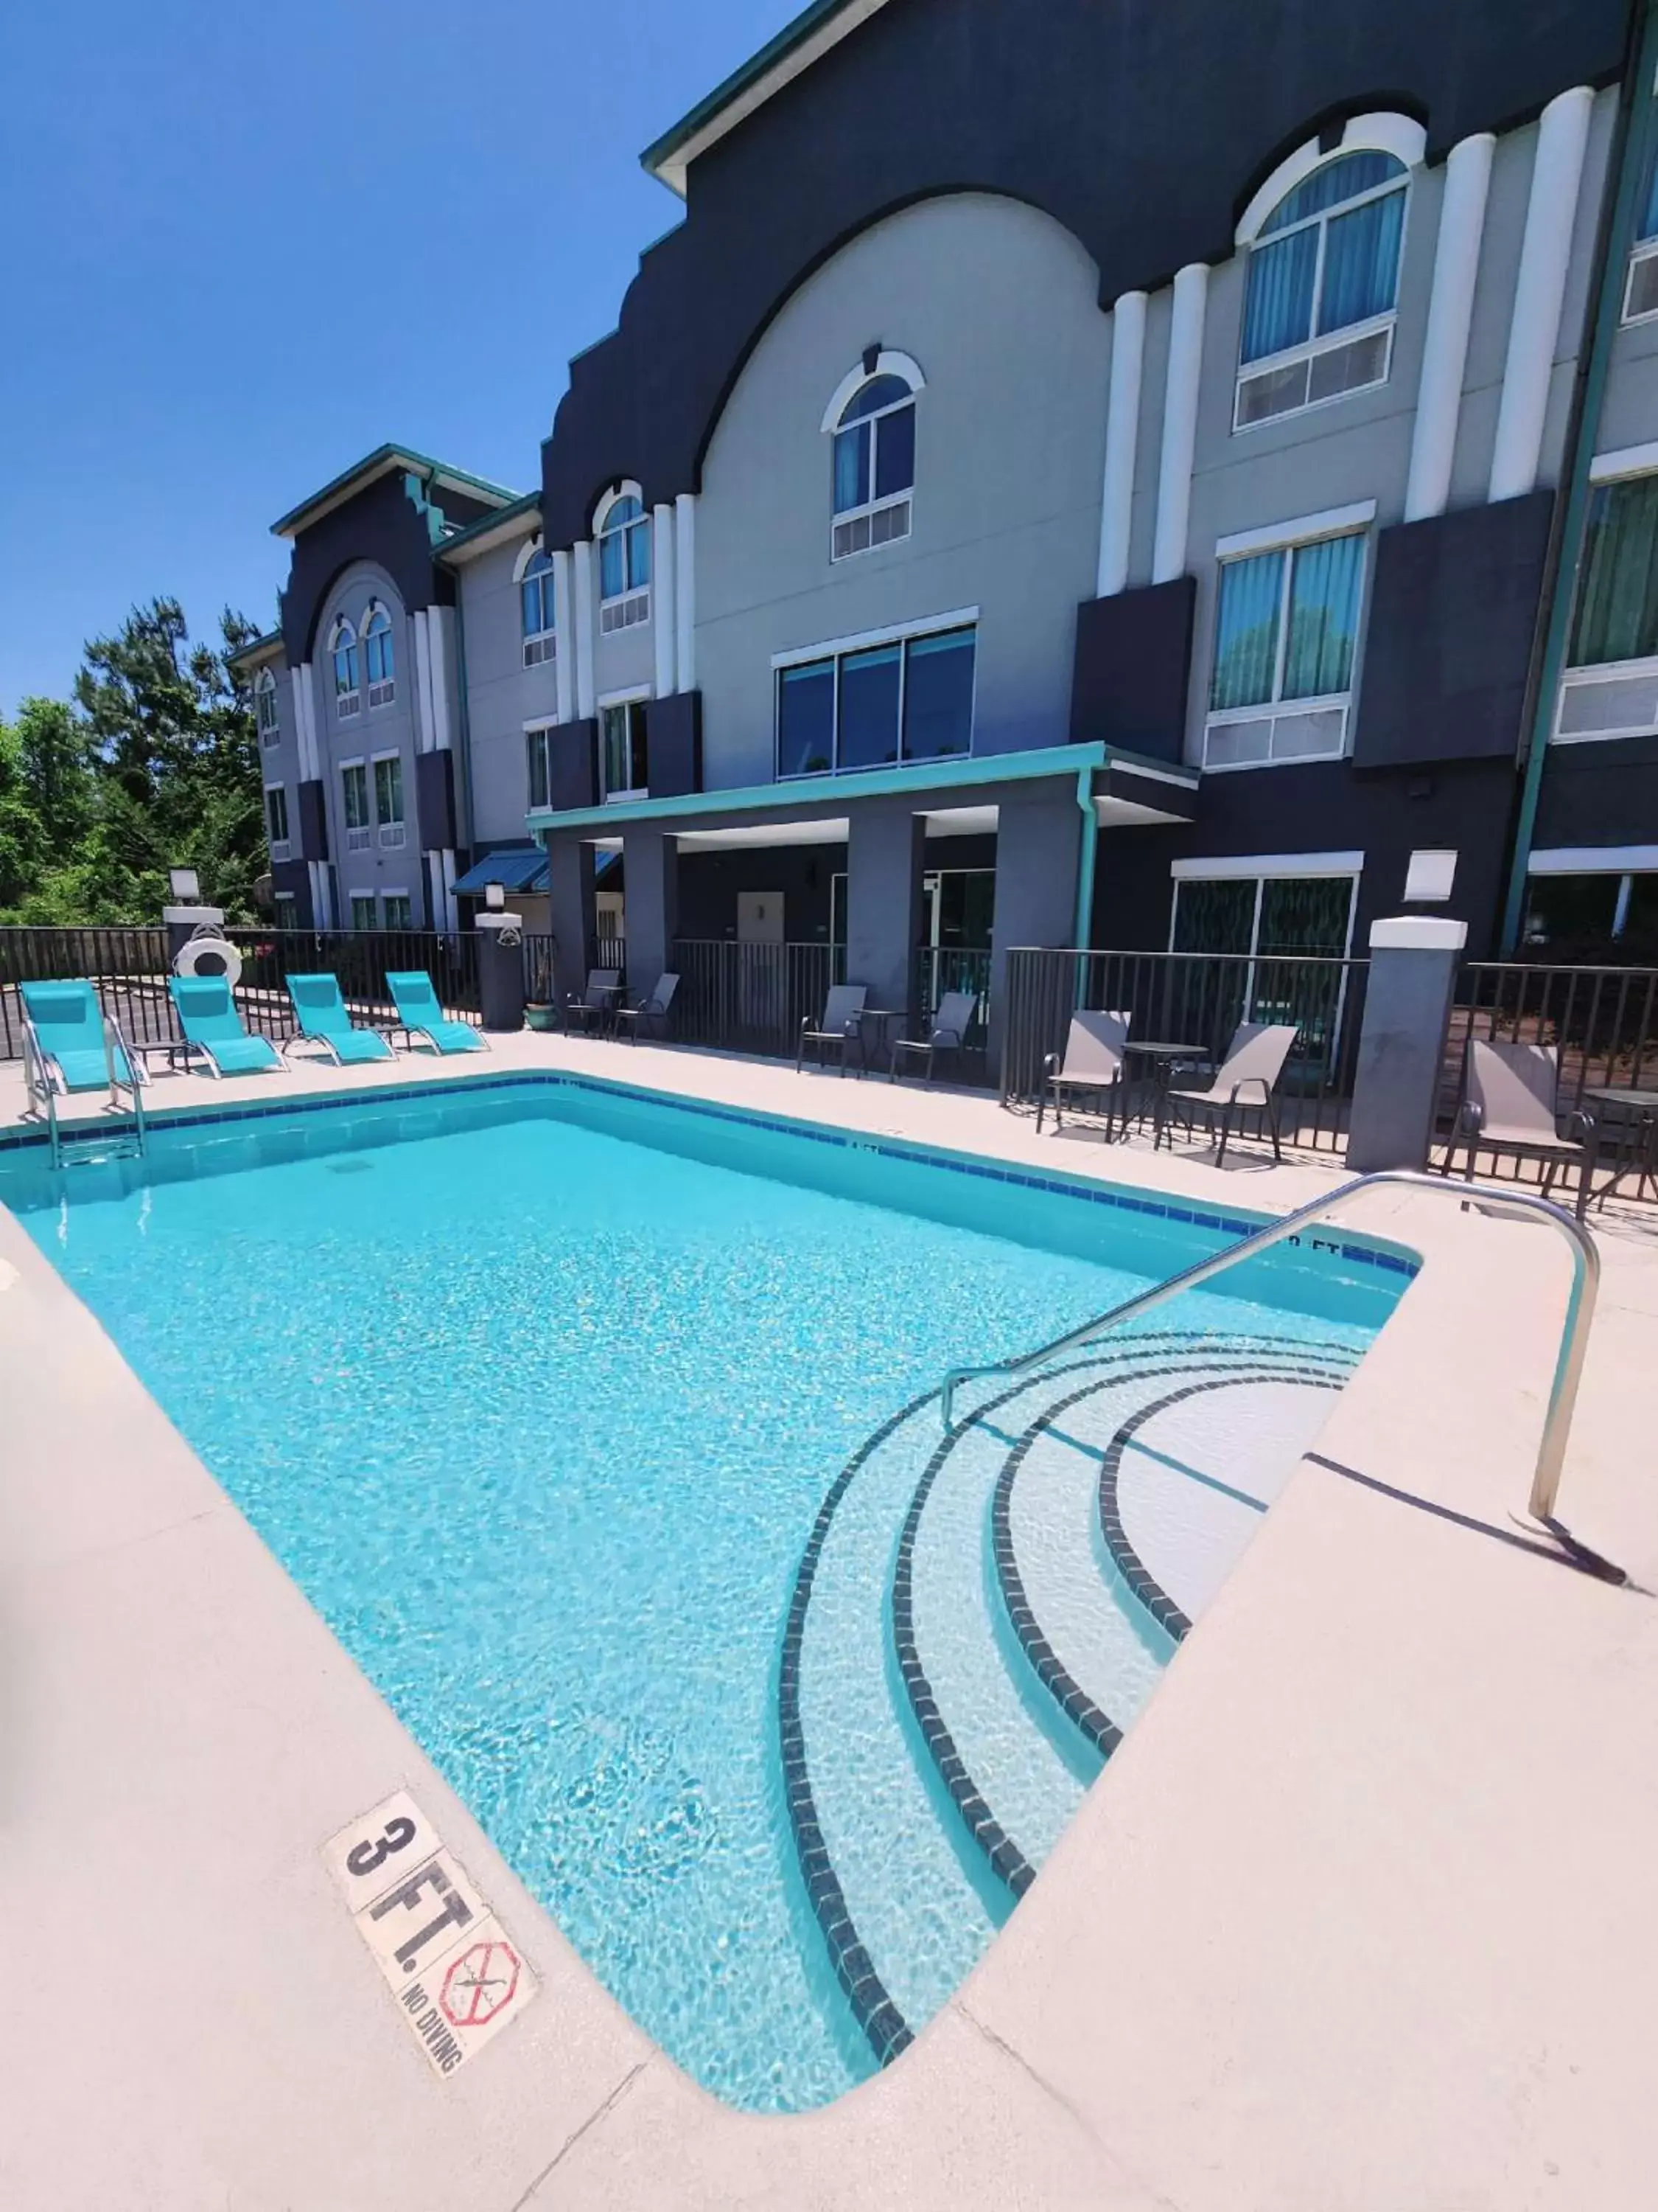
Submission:
[[[192,644],[177,599],[153,599],[86,646],[73,703],[24,699],[0,723],[0,922],[155,922],[168,867],[252,920],[263,779],[228,655],[259,633],[230,608],[219,633]]]

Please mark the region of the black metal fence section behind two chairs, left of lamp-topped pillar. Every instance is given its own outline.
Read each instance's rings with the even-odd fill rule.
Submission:
[[[1178,1044],[1207,1062],[1225,1057],[1240,1022],[1293,1022],[1295,1046],[1280,1091],[1284,1141],[1342,1152],[1366,978],[1366,960],[1012,951],[1001,1102],[1035,1106],[1043,1060],[1063,1053],[1070,1015],[1079,1009],[1125,1013],[1130,1042]],[[1147,1066],[1143,1099],[1150,1086]]]

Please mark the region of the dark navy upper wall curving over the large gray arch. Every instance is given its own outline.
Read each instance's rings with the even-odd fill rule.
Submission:
[[[692,164],[617,330],[542,447],[548,544],[619,476],[696,489],[725,394],[789,292],[940,192],[1006,192],[1099,263],[1101,305],[1225,261],[1238,210],[1324,122],[1402,108],[1430,155],[1623,66],[1627,0],[891,0]],[[893,334],[871,332],[871,341]]]

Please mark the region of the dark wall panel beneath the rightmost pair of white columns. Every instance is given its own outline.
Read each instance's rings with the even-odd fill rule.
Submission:
[[[1355,768],[1514,759],[1552,513],[1530,491],[1377,533]]]

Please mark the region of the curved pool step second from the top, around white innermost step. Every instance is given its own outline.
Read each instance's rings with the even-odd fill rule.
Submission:
[[[1253,1371],[1267,1352],[1245,1352]],[[1101,1756],[1138,1714],[1172,1655],[1096,1537],[1101,1455],[1114,1431],[1167,1396],[1234,1363],[1205,1338],[1136,1347],[1130,1365],[1066,1378],[1008,1449],[990,1500],[997,1595],[1039,1694]]]

